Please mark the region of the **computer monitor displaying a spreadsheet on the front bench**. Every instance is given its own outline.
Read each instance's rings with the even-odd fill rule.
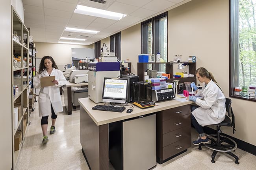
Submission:
[[[128,96],[128,79],[104,78],[102,99],[104,102],[125,103]]]

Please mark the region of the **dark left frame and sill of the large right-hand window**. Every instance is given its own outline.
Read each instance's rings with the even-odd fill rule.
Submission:
[[[256,99],[234,95],[235,87],[239,86],[239,0],[229,0],[229,97],[254,101]]]

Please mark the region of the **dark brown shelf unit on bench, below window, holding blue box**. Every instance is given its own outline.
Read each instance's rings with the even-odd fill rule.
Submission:
[[[189,67],[188,73],[194,74],[194,77],[187,77],[187,78],[173,78],[173,64],[170,64],[169,62],[166,63],[151,63],[151,62],[138,62],[137,63],[137,74],[139,76],[140,81],[144,81],[144,71],[146,71],[149,68],[148,64],[152,64],[151,68],[156,69],[158,71],[158,68],[160,64],[165,64],[165,73],[170,74],[170,79],[167,80],[167,82],[173,82],[173,80],[180,80],[180,83],[183,82],[196,82],[196,76],[195,71],[197,69],[197,63],[196,62],[182,62],[183,65],[186,65]]]

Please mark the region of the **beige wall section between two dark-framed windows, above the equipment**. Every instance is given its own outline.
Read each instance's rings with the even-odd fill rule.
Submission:
[[[138,54],[141,53],[141,24],[137,24],[121,32],[122,60],[130,59],[132,73],[137,75]]]

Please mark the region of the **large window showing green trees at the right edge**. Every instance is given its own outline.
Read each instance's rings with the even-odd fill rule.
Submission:
[[[256,101],[256,0],[230,0],[230,97]],[[254,92],[253,92],[254,91]]]

